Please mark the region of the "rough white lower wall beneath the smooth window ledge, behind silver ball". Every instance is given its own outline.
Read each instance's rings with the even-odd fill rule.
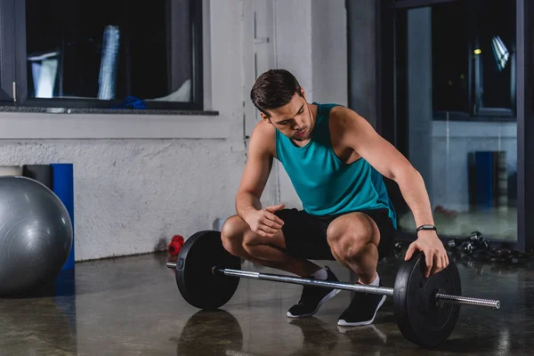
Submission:
[[[0,162],[72,162],[77,261],[153,251],[231,214],[243,147],[229,141],[0,142]]]

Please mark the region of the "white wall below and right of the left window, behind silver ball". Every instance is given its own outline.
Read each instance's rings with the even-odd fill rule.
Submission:
[[[241,4],[207,12],[206,109],[219,116],[0,113],[0,165],[75,165],[77,261],[150,252],[233,213],[245,162]]]

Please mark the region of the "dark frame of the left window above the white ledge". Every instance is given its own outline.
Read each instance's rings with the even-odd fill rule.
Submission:
[[[173,1],[166,0],[167,7],[170,7]],[[145,100],[147,109],[193,111],[204,109],[203,2],[197,0],[188,1],[191,34],[191,101]],[[171,23],[167,28],[171,33],[175,33],[173,26],[176,21],[172,19],[171,15]],[[172,46],[169,47],[169,51],[173,51]],[[28,98],[26,58],[26,0],[0,0],[0,105],[38,108],[110,109],[125,100],[125,98],[116,100]]]

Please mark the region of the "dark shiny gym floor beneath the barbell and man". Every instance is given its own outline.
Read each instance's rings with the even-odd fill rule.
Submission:
[[[381,263],[393,286],[400,258]],[[339,279],[351,275],[328,263]],[[199,312],[179,294],[166,254],[77,263],[49,296],[0,300],[0,347],[10,355],[524,355],[534,346],[530,265],[461,263],[464,295],[500,299],[500,310],[464,306],[452,336],[432,352],[410,344],[392,298],[373,326],[338,328],[350,302],[342,291],[315,317],[289,320],[302,286],[241,279],[221,312]],[[244,263],[244,269],[276,272]]]

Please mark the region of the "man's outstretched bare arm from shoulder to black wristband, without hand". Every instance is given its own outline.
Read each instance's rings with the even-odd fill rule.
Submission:
[[[366,119],[351,109],[340,108],[335,114],[344,144],[355,150],[385,177],[399,185],[402,197],[414,214],[417,226],[433,224],[430,198],[419,172],[401,152],[384,140]]]

